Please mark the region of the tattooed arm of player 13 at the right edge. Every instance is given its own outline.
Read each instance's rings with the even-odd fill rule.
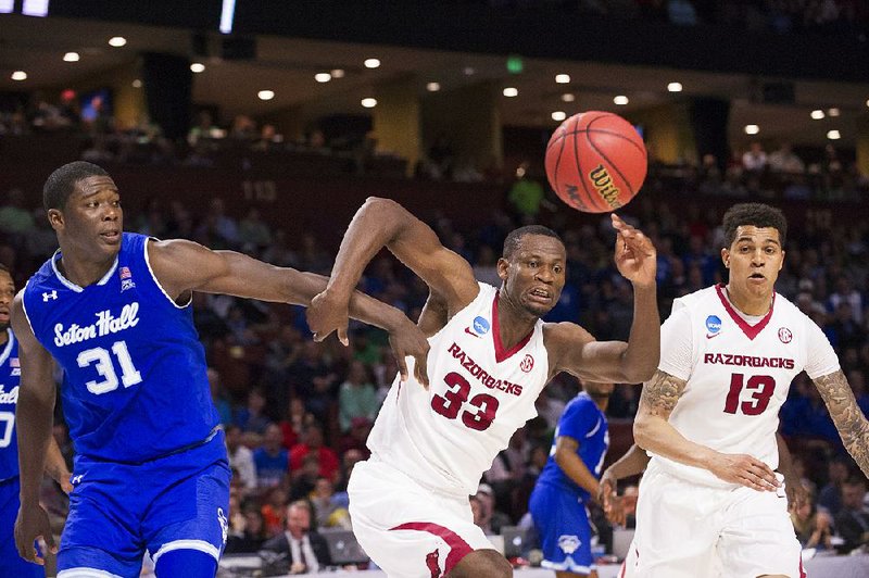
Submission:
[[[862,415],[854,392],[841,369],[818,377],[815,387],[830,410],[830,417],[852,457],[869,477],[869,422]]]

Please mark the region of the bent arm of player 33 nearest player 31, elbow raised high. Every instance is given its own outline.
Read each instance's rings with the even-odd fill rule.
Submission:
[[[462,256],[441,244],[431,227],[389,199],[371,197],[353,216],[335,257],[326,290],[307,310],[316,339],[347,332],[347,303],[365,267],[386,247],[446,304],[449,315],[470,303],[479,287]]]

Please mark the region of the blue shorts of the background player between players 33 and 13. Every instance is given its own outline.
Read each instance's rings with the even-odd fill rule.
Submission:
[[[575,493],[539,483],[528,508],[543,548],[541,566],[574,574],[590,574],[596,568],[591,555],[589,512]]]

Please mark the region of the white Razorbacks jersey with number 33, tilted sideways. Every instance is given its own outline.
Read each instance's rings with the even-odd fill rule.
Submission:
[[[498,289],[480,284],[476,299],[428,341],[429,389],[413,377],[408,357],[410,378],[395,377],[368,448],[432,490],[467,497],[513,434],[537,415],[534,400],[549,376],[543,322],[504,350]]]

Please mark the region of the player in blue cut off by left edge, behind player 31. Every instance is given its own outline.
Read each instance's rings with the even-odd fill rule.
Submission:
[[[45,576],[37,564],[25,561],[15,549],[13,528],[18,513],[18,444],[15,436],[15,405],[18,401],[18,343],[9,328],[9,310],[15,297],[15,282],[0,265],[0,578]],[[46,470],[70,491],[70,472],[60,448],[51,439]]]

